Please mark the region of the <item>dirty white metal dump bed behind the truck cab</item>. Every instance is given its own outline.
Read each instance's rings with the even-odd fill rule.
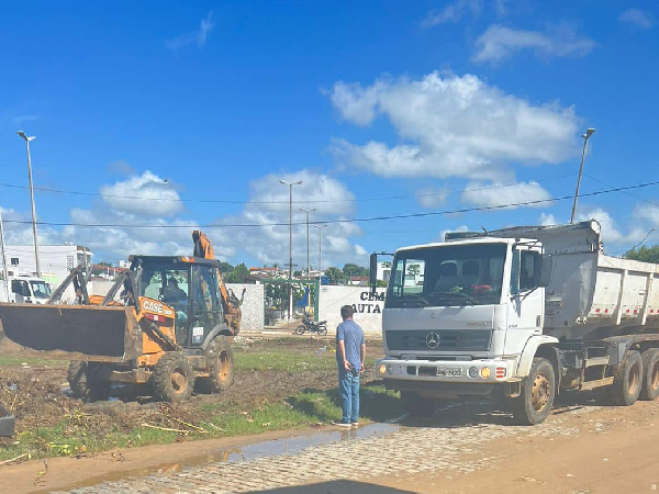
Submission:
[[[549,259],[545,267],[551,270],[545,289],[545,334],[590,339],[659,333],[659,265],[605,256],[596,221],[488,235],[543,243]]]

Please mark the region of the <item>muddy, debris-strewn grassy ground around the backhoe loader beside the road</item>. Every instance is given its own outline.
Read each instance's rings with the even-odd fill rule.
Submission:
[[[321,427],[340,417],[336,357],[328,348],[308,338],[238,344],[236,384],[180,404],[149,401],[139,390],[82,403],[63,392],[66,361],[0,356],[0,401],[16,416],[16,435],[0,442],[0,461]],[[369,381],[367,374],[362,418],[399,416],[398,394]]]

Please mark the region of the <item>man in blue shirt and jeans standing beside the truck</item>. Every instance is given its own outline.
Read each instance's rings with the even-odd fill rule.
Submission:
[[[353,321],[353,306],[340,307],[343,323],[336,328],[336,363],[338,364],[338,394],[343,405],[343,418],[334,422],[340,427],[359,424],[359,374],[364,372],[366,344],[364,332]]]

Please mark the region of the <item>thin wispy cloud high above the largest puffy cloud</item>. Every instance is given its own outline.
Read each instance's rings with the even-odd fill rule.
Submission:
[[[476,41],[476,47],[473,61],[499,63],[524,49],[543,58],[584,57],[595,47],[595,42],[580,36],[567,24],[554,26],[546,33],[492,24]]]

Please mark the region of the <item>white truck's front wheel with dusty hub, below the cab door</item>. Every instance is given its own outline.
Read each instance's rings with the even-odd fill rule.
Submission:
[[[522,393],[513,398],[513,418],[520,425],[536,425],[545,422],[556,397],[556,374],[547,359],[533,359],[530,372],[522,381]]]

